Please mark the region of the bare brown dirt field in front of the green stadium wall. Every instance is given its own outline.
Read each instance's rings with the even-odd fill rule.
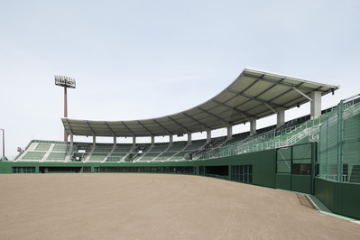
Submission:
[[[360,239],[276,189],[171,174],[0,175],[0,239]]]

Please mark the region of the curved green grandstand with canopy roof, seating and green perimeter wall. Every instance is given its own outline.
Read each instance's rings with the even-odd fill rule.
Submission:
[[[161,172],[208,176],[310,194],[341,215],[360,218],[360,97],[321,110],[338,86],[244,69],[207,102],[174,115],[134,121],[62,118],[69,142],[32,140],[1,173]],[[285,113],[310,103],[310,113],[285,122]],[[276,115],[273,125],[256,121]],[[233,134],[233,126],[250,131]],[[211,131],[226,128],[224,136]],[[192,140],[191,134],[207,138]],[[156,136],[168,143],[155,143]],[[187,135],[186,141],[173,136]],[[74,142],[91,136],[92,143]],[[137,137],[150,143],[137,143]],[[97,137],[113,143],[97,143]],[[118,137],[133,143],[117,143]]]

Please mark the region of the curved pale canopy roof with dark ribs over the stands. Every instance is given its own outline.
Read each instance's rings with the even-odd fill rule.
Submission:
[[[68,134],[96,136],[161,136],[189,134],[249,122],[324,96],[339,86],[312,82],[257,69],[244,69],[235,81],[207,102],[174,115],[133,121],[90,121],[62,118]]]

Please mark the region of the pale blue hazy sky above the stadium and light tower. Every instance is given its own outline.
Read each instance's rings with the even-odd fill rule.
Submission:
[[[325,108],[360,93],[359,42],[358,0],[0,0],[5,154],[32,139],[63,140],[54,75],[76,79],[68,90],[76,119],[175,114],[216,96],[245,67],[340,85]],[[286,120],[309,106],[288,112]]]

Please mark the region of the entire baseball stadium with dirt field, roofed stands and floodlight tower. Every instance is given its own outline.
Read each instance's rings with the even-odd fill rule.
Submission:
[[[65,93],[75,84],[55,81]],[[14,160],[3,156],[1,189],[14,195],[2,197],[1,235],[358,239],[360,95],[322,108],[321,97],[339,88],[245,68],[217,96],[180,113],[131,121],[65,114],[64,141],[32,140]],[[304,104],[308,115],[285,121]],[[271,115],[276,122],[256,126]],[[245,124],[249,131],[233,133]],[[226,134],[212,135],[217,129]],[[197,133],[206,137],[192,139]],[[159,136],[169,142],[157,143]]]

